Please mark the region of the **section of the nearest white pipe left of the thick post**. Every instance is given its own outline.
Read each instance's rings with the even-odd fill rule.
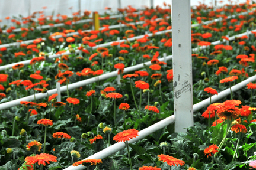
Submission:
[[[128,143],[135,143],[135,142],[145,138],[146,136],[150,135],[151,133],[156,132],[159,129],[165,128],[165,126],[168,126],[171,123],[174,123],[174,115],[169,116],[169,117],[165,118],[164,120],[161,120],[160,122],[149,126],[146,129],[140,130],[139,136],[131,139]],[[107,158],[107,156],[110,156],[113,153],[120,151],[125,146],[126,145],[124,144],[124,142],[119,142],[119,143],[116,143],[108,148],[103,149],[100,152],[95,153],[94,155],[89,156],[86,159],[104,159],[104,158]],[[79,165],[79,166],[69,166],[68,168],[65,168],[65,170],[81,170],[81,169],[85,169],[85,168],[86,168],[86,166]]]

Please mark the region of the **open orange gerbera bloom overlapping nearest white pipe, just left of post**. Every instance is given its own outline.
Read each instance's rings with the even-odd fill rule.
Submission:
[[[117,133],[116,136],[114,136],[113,140],[116,142],[126,142],[130,139],[136,138],[139,136],[139,131],[136,129],[129,129],[124,130],[123,132]]]

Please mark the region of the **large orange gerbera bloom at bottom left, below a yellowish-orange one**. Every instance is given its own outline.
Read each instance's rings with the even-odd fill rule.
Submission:
[[[37,162],[39,165],[43,164],[45,166],[46,162],[50,164],[49,161],[57,162],[57,157],[47,153],[41,153],[40,155],[28,156],[25,158],[27,164],[36,164]]]

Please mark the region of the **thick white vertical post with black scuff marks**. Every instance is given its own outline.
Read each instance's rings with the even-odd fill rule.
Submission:
[[[172,0],[172,68],[175,132],[194,125],[190,0]],[[185,102],[184,102],[185,101]]]

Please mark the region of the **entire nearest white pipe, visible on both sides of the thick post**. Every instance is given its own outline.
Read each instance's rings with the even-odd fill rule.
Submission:
[[[246,86],[249,82],[252,81],[256,81],[256,76],[252,76],[249,77],[247,80],[242,81],[241,83],[236,84],[235,86],[232,86],[231,89],[232,91],[236,91],[241,89],[242,87]],[[222,99],[225,96],[228,96],[230,94],[230,90],[226,89],[222,92],[220,92],[218,94],[218,96],[212,96],[212,102],[216,102],[217,100]],[[193,105],[193,112],[196,112],[197,110],[202,109],[203,107],[208,106],[210,103],[210,97],[208,99],[205,99],[197,104]],[[139,132],[139,136],[137,136],[137,138],[134,138],[132,140],[129,141],[129,143],[134,143],[140,139],[145,138],[146,136],[150,135],[153,132],[156,132],[156,130],[162,129],[165,126],[174,123],[175,121],[175,117],[174,115],[167,117],[164,120],[161,120],[158,123],[155,123],[154,125],[149,126],[148,128],[141,130]],[[152,131],[155,130],[155,131]],[[123,149],[125,147],[124,143],[116,143],[106,149],[103,149],[100,152],[95,153],[94,155],[89,156],[88,158],[85,159],[104,159],[107,158],[108,156],[112,155],[113,153],[116,153],[117,151],[120,151],[121,149]],[[85,160],[84,159],[84,160]],[[65,168],[64,170],[81,170],[81,169],[85,169],[85,166],[69,166],[68,168]]]

